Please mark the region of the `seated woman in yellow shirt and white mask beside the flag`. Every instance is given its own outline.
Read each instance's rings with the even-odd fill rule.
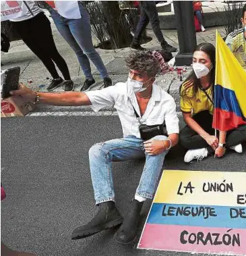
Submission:
[[[226,149],[242,153],[246,141],[246,125],[228,132],[212,128],[213,87],[215,80],[216,50],[210,43],[197,45],[193,53],[193,72],[181,85],[181,111],[187,124],[180,132],[181,145],[188,149],[184,161],[202,160],[208,155],[222,157]]]

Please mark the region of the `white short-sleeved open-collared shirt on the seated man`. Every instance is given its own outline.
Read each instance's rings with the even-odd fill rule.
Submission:
[[[109,86],[102,90],[88,91],[86,95],[89,97],[94,111],[103,107],[117,109],[124,137],[133,135],[141,138],[138,130],[139,122],[133,110],[134,106],[138,115],[141,116],[140,107],[137,104],[135,93],[130,86],[127,86],[127,83],[118,82],[115,86]],[[152,97],[140,121],[149,126],[165,123],[168,134],[179,133],[179,118],[175,101],[156,83],[153,84]]]

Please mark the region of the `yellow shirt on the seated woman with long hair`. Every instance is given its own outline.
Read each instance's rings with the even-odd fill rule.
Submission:
[[[210,99],[212,99],[212,86],[206,89],[206,93],[208,93]],[[206,93],[201,89],[198,89],[197,93],[194,94],[193,85],[189,81],[184,82],[181,87],[181,111],[183,113],[191,113],[192,115],[195,115],[201,111],[208,110],[212,115],[214,107]]]

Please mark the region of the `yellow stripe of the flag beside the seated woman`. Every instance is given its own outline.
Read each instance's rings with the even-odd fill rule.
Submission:
[[[216,30],[215,84],[235,91],[243,116],[246,117],[246,72]]]

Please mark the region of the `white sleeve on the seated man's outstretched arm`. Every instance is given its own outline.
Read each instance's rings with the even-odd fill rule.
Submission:
[[[113,107],[113,105],[115,105],[115,90],[115,86],[109,86],[102,90],[88,91],[85,93],[92,103],[92,109],[98,111],[103,107]]]

